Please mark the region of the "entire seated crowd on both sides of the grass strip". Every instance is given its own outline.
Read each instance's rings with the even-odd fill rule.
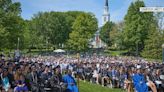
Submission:
[[[0,60],[2,92],[78,92],[75,78],[127,92],[164,92],[164,64],[142,58],[57,55]]]

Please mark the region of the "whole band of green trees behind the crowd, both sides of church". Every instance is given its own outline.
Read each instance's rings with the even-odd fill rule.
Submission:
[[[100,38],[109,47],[128,50],[146,58],[161,59],[164,13],[140,12],[144,1],[132,2],[124,20],[107,22]],[[21,4],[0,0],[0,49],[65,48],[86,51],[98,30],[94,14],[82,11],[38,12],[30,20],[21,17]]]

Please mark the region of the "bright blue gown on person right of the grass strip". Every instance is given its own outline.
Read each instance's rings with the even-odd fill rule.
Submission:
[[[135,74],[133,77],[133,84],[137,92],[148,92],[148,86],[146,85],[144,75]]]

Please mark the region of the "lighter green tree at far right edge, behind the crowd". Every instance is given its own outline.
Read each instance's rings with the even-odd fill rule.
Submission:
[[[152,59],[162,59],[162,44],[164,43],[164,35],[157,30],[152,31],[148,39],[145,40],[145,48],[142,51],[142,56]]]

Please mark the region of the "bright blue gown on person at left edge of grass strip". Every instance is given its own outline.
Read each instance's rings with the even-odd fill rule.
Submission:
[[[67,89],[70,90],[70,92],[78,92],[78,88],[76,86],[76,81],[71,75],[65,75],[63,76],[64,83],[68,83]],[[74,83],[74,85],[71,85],[71,83]]]

